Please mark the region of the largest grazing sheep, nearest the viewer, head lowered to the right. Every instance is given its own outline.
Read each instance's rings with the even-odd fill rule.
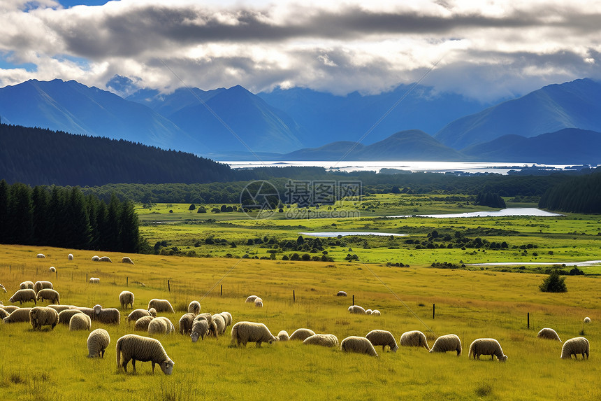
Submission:
[[[154,374],[154,365],[159,364],[164,374],[173,372],[175,363],[167,356],[165,349],[159,340],[154,338],[142,337],[139,335],[124,335],[117,340],[115,348],[117,353],[117,366],[123,367],[127,372],[127,363],[131,360],[133,372],[136,372],[136,360],[140,362],[150,361],[152,363],[152,373]],[[123,356],[123,364],[121,364]]]

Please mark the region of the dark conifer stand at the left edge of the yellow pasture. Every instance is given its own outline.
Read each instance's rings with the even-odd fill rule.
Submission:
[[[0,244],[137,253],[138,227],[133,203],[116,196],[107,203],[78,187],[0,181]]]

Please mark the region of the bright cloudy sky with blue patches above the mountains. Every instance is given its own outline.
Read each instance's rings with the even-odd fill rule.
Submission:
[[[601,79],[601,0],[1,0],[0,86],[119,74],[168,92],[242,85],[491,101]],[[169,69],[164,64],[166,64]],[[114,89],[113,89],[114,90]]]

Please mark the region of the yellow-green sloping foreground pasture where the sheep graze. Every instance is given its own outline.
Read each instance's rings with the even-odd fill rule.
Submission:
[[[580,221],[580,220],[579,220]],[[463,223],[466,224],[466,223]],[[48,258],[36,258],[45,253]],[[75,260],[68,262],[66,255]],[[433,269],[428,264],[385,267],[361,262],[284,262],[229,258],[184,258],[129,255],[136,265],[92,262],[92,251],[3,246],[0,283],[8,298],[24,280],[48,279],[61,303],[119,307],[118,295],[131,290],[134,307],[166,298],[176,309],[164,314],[177,326],[188,302],[200,300],[202,311],[229,311],[236,321],[266,323],[273,334],[296,328],[332,333],[342,340],[372,329],[421,330],[430,346],[437,335],[455,333],[463,343],[461,357],[435,355],[401,347],[396,353],[377,349],[379,358],[350,355],[339,349],[296,342],[229,347],[229,330],[219,339],[192,344],[179,334],[159,338],[175,361],[164,376],[150,363],[138,363],[136,374],[117,370],[115,343],[131,327],[122,318],[106,328],[111,344],[103,360],[87,358],[88,332],[34,332],[27,323],[0,325],[0,395],[6,400],[599,400],[601,363],[600,278],[568,276],[568,292],[540,293],[540,274]],[[57,267],[57,275],[48,268]],[[86,278],[97,276],[99,284]],[[129,286],[126,286],[129,283]],[[141,286],[144,283],[145,286]],[[349,297],[335,297],[345,290]],[[222,291],[222,294],[221,294]],[[293,293],[296,300],[293,301]],[[260,295],[265,307],[244,300]],[[355,303],[379,309],[382,316],[349,315]],[[433,304],[435,316],[433,317]],[[24,304],[24,307],[32,306]],[[128,311],[122,311],[126,316]],[[527,316],[530,314],[530,328]],[[582,319],[590,316],[592,323]],[[538,330],[554,328],[561,339],[581,333],[591,342],[588,360],[560,360],[560,345],[536,339]],[[494,337],[509,356],[507,363],[468,359],[478,337]],[[131,370],[131,365],[130,365]]]

